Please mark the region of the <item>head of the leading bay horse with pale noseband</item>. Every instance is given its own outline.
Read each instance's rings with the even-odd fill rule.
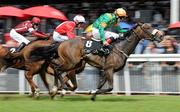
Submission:
[[[147,23],[137,23],[133,28],[134,33],[140,39],[147,39],[151,41],[162,41],[164,33],[158,29],[153,28],[150,24]]]

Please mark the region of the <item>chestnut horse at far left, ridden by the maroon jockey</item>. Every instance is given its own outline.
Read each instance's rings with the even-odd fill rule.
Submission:
[[[49,63],[47,61],[41,60],[41,61],[36,61],[36,62],[26,62],[24,60],[24,55],[27,55],[29,50],[32,49],[32,46],[38,46],[44,45],[43,43],[49,43],[51,44],[53,41],[51,40],[37,40],[34,42],[31,42],[29,45],[27,45],[24,49],[21,50],[21,52],[18,53],[11,53],[9,52],[9,49],[0,45],[0,70],[4,71],[6,68],[16,68],[20,70],[26,70],[25,72],[25,78],[27,79],[30,87],[31,87],[31,96],[35,96],[36,98],[39,98],[39,89],[38,86],[34,83],[33,81],[33,76],[36,74],[39,74],[42,81],[45,84],[45,87],[48,89],[51,98],[54,97],[54,92],[50,91],[49,84],[46,80],[46,73],[50,75],[54,75],[54,70],[51,66],[49,66]],[[39,43],[39,44],[38,44]],[[37,45],[38,44],[38,45]],[[74,82],[74,79],[71,78],[74,72],[70,71],[67,73],[66,77],[64,78],[64,81],[68,87],[69,90],[74,90],[77,88],[77,85],[74,85],[73,87],[70,86],[70,84],[67,82],[69,79],[72,79]],[[59,78],[59,77],[58,77]],[[57,78],[55,85],[57,85]],[[58,88],[55,88],[56,90],[52,89],[55,91],[58,90]]]

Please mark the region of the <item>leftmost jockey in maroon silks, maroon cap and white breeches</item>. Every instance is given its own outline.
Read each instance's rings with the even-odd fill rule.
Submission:
[[[16,52],[19,52],[23,49],[30,41],[26,39],[22,34],[30,32],[34,36],[39,38],[48,38],[49,35],[42,33],[38,30],[38,26],[41,20],[38,17],[33,17],[31,21],[27,20],[15,26],[11,29],[10,37],[20,43],[19,47],[16,49]]]

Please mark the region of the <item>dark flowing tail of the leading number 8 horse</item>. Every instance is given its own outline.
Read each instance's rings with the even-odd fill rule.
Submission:
[[[50,60],[52,58],[58,57],[57,49],[60,43],[53,43],[49,46],[44,47],[37,47],[30,53],[29,59],[31,61],[38,61],[38,60]]]

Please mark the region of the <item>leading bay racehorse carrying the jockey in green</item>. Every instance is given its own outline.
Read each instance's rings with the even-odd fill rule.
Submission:
[[[113,73],[123,69],[128,56],[134,51],[135,47],[141,39],[160,42],[163,39],[163,33],[157,29],[154,29],[149,24],[138,22],[128,32],[124,41],[117,40],[113,44],[113,49],[107,56],[99,56],[92,53],[86,54],[84,50],[85,45],[88,44],[88,46],[91,46],[93,41],[87,41],[82,38],[75,38],[64,41],[60,45],[57,44],[34,49],[30,53],[29,57],[26,57],[26,59],[31,61],[34,59],[51,60],[52,65],[61,71],[59,74],[69,70],[77,70],[79,68],[83,69],[85,63],[89,63],[90,65],[103,70],[104,77],[100,80],[97,90],[91,97],[91,100],[95,100],[97,94],[106,93],[113,89]],[[49,49],[52,50],[48,51]],[[49,59],[49,57],[51,57],[52,51],[57,52],[58,58]],[[48,53],[49,55],[47,56]],[[106,81],[108,81],[109,88],[101,89]]]

